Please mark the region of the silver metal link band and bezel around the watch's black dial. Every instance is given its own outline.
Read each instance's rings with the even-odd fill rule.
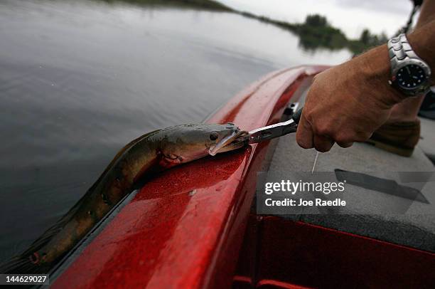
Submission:
[[[420,65],[422,69],[425,71],[426,75],[429,78],[431,74],[431,70],[429,65],[427,65],[417,54],[412,50],[411,45],[409,45],[409,41],[405,34],[400,34],[399,36],[393,37],[387,43],[388,47],[388,55],[390,56],[391,63],[391,74],[392,80],[390,80],[390,84],[400,90],[402,93],[408,96],[416,96],[427,93],[430,90],[429,81],[427,83],[422,83],[421,86],[417,87],[414,90],[404,90],[399,88],[394,83],[394,78],[397,70],[407,65],[408,63],[413,63]]]

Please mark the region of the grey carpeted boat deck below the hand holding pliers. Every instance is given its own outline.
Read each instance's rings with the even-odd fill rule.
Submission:
[[[422,126],[422,140],[412,157],[400,157],[365,143],[355,143],[348,149],[335,144],[330,152],[318,155],[315,172],[343,169],[375,177],[389,175],[399,184],[420,189],[429,204],[347,184],[345,199],[348,204],[335,209],[332,214],[316,214],[318,211],[315,208],[307,207],[282,217],[435,252],[435,174],[427,174],[431,182],[411,183],[405,180],[404,183],[400,174],[394,173],[435,172],[434,164],[426,156],[431,151],[434,154],[435,122],[422,120]],[[291,179],[291,172],[311,172],[315,157],[314,149],[301,149],[296,144],[294,134],[281,137],[272,157],[268,178],[273,176],[276,179],[281,174],[284,179]]]

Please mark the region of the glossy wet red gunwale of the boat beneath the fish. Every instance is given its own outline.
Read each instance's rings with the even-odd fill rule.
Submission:
[[[279,122],[296,90],[326,68],[271,73],[207,122],[234,122],[242,130]],[[253,144],[159,174],[61,273],[53,288],[230,287],[268,146]]]

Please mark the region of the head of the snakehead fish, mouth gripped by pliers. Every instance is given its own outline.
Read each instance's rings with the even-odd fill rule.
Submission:
[[[190,162],[208,154],[229,152],[247,145],[241,136],[247,132],[232,123],[225,125],[198,124],[173,127],[161,142],[161,152],[166,159]]]

